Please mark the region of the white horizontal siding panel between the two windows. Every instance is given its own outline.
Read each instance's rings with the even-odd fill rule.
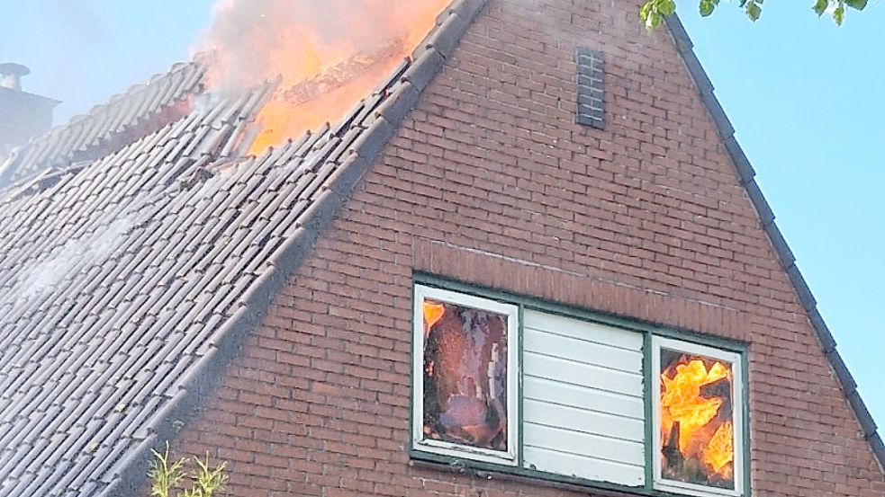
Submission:
[[[524,465],[644,484],[642,333],[530,310],[523,325]]]

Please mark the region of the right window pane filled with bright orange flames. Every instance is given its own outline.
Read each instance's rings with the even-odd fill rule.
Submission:
[[[731,365],[661,351],[664,478],[735,488]]]

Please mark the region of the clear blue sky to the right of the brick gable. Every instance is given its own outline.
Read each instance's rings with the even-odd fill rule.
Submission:
[[[885,4],[841,28],[813,2],[680,16],[863,400],[885,432]]]

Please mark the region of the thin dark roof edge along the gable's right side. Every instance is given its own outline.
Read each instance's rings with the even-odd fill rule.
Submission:
[[[676,14],[666,18],[667,29],[673,36],[673,41],[677,51],[682,56],[685,66],[688,67],[691,78],[700,92],[701,101],[709,111],[710,117],[719,135],[725,140],[725,147],[728,155],[731,156],[735,165],[741,184],[744,186],[747,196],[753,203],[754,208],[759,214],[762,221],[765,234],[768,235],[774,252],[781,262],[781,267],[787,272],[790,282],[799,297],[799,302],[805,308],[808,321],[811,323],[817,338],[821,343],[821,347],[826,355],[826,359],[833,368],[835,377],[842,387],[848,404],[851,406],[857,421],[860,423],[864,438],[870,443],[873,455],[879,462],[880,468],[885,472],[885,444],[882,443],[881,436],[876,428],[876,422],[872,419],[866,405],[863,404],[860,393],[857,391],[857,383],[854,381],[851,372],[845,366],[842,356],[836,351],[835,340],[829,328],[824,323],[820,312],[817,310],[817,300],[808,288],[805,278],[796,265],[796,259],[793,256],[786,240],[781,235],[781,230],[774,222],[774,213],[765,200],[759,185],[755,182],[755,172],[750,161],[747,159],[744,150],[735,138],[735,129],[728,120],[725,111],[718,102],[716,95],[713,93],[713,84],[710,83],[709,75],[700,64],[700,60],[695,55],[694,44],[691,42],[688,31],[682,25],[682,21]]]

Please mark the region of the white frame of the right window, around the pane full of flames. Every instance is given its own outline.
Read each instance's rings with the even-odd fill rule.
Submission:
[[[734,440],[732,447],[735,448],[735,460],[733,463],[735,471],[735,488],[734,490],[726,488],[710,487],[700,484],[689,484],[675,480],[668,480],[662,476],[661,467],[661,349],[671,351],[685,352],[691,355],[699,355],[710,359],[718,359],[726,361],[731,365],[733,381],[732,384],[732,419],[734,422]],[[692,342],[683,342],[671,338],[661,336],[652,336],[652,370],[651,377],[653,379],[653,387],[650,390],[652,395],[652,448],[653,452],[653,476],[655,490],[662,490],[672,493],[682,493],[683,495],[693,495],[697,497],[710,497],[718,495],[727,495],[732,497],[740,497],[745,494],[744,489],[744,471],[745,471],[745,438],[744,438],[744,374],[742,370],[742,356],[736,352],[723,351],[705,345],[699,345]]]

